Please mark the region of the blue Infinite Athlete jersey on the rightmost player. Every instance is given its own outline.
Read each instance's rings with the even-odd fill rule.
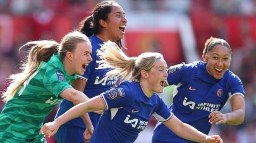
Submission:
[[[211,129],[208,115],[220,111],[231,96],[245,94],[237,75],[227,70],[217,80],[206,71],[206,63],[202,61],[171,66],[168,73],[167,84],[175,85],[170,111],[205,134]],[[178,137],[162,123],[157,123],[153,140],[193,142]]]

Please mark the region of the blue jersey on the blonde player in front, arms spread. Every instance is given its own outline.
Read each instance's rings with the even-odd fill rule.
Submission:
[[[107,110],[101,115],[90,143],[134,142],[151,115],[160,122],[172,116],[162,98],[155,93],[148,98],[139,82],[125,81],[101,96]]]

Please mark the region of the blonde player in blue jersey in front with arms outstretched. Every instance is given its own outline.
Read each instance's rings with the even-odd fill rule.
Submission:
[[[207,136],[173,115],[161,97],[167,78],[167,64],[160,53],[142,53],[138,57],[127,57],[114,43],[108,41],[98,53],[103,60],[99,68],[114,68],[107,73],[124,75],[130,81],[103,92],[89,101],[76,105],[55,121],[46,123],[41,129],[52,136],[60,125],[81,114],[106,110],[100,117],[90,142],[113,143],[134,142],[145,129],[151,115],[163,122],[181,137],[198,142],[222,142],[219,136]]]

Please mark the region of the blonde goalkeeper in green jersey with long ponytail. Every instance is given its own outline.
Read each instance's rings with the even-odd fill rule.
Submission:
[[[70,32],[60,44],[42,40],[22,47],[27,45],[31,48],[22,72],[10,76],[10,86],[3,92],[6,104],[0,114],[0,142],[46,142],[39,130],[60,100],[65,98],[76,105],[89,99],[70,85],[92,61],[91,43],[83,33]],[[92,134],[88,114],[82,119]]]

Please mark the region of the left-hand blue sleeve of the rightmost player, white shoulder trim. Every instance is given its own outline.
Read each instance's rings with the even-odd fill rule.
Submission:
[[[185,63],[170,66],[167,70],[168,77],[166,80],[167,85],[178,85],[182,80],[182,76],[185,70]]]

